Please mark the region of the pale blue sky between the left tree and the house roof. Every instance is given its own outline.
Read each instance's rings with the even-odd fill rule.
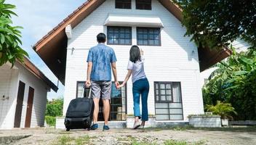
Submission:
[[[33,51],[32,46],[46,35],[52,28],[60,23],[65,17],[71,14],[77,7],[86,0],[7,0],[7,4],[14,4],[13,11],[18,17],[13,16],[13,25],[22,26],[22,48],[28,52],[31,62],[39,67],[44,75],[52,80],[57,86],[57,78],[51,70],[44,64],[41,58]],[[47,94],[47,99],[57,99],[63,97],[64,86],[59,83],[59,91],[51,91]]]

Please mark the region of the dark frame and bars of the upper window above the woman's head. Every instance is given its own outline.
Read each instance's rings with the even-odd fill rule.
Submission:
[[[147,29],[147,41],[148,41],[148,45],[145,45],[145,44],[139,44],[138,41],[142,40],[144,41],[145,39],[139,39],[139,29]],[[152,44],[149,44],[149,41],[150,40],[153,40],[153,41],[156,41],[157,39],[150,39],[149,38],[149,31],[150,30],[159,30],[159,44],[158,45],[152,45]],[[161,28],[147,28],[147,27],[137,27],[136,28],[136,33],[137,33],[137,46],[161,46]],[[153,34],[155,35],[155,34]]]

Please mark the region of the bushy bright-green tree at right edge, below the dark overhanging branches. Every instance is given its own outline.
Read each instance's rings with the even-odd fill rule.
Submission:
[[[217,100],[231,103],[238,113],[236,120],[256,120],[256,50],[233,51],[228,60],[217,64],[209,79],[203,88],[205,106]]]

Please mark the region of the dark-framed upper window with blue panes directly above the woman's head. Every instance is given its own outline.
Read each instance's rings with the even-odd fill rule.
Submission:
[[[160,28],[137,28],[137,45],[161,46]]]

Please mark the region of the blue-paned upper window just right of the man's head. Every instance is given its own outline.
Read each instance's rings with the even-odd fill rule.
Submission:
[[[132,28],[108,27],[108,44],[132,45]]]

